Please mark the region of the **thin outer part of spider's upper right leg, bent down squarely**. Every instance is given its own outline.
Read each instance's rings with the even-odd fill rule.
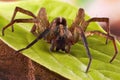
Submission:
[[[109,18],[106,17],[102,17],[102,18],[98,18],[98,17],[94,17],[89,19],[88,21],[86,21],[87,24],[89,24],[90,22],[105,22],[106,23],[106,29],[107,29],[107,35],[110,35],[110,25],[109,25]],[[87,26],[85,26],[85,30],[86,30]],[[106,37],[106,44],[108,43],[108,37]]]

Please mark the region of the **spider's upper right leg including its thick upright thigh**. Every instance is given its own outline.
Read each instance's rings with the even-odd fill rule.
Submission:
[[[91,18],[87,21],[85,21],[84,19],[85,17],[85,11],[84,9],[80,8],[78,10],[78,13],[75,17],[75,20],[73,23],[77,24],[77,25],[81,25],[83,31],[86,31],[87,27],[88,27],[88,24],[90,22],[105,22],[106,23],[106,29],[107,29],[107,34],[109,35],[110,34],[110,26],[109,26],[109,18],[106,18],[106,17],[94,17],[94,18]],[[106,44],[108,43],[108,38],[106,38]]]

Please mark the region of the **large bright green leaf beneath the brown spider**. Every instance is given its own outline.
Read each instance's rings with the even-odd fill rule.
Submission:
[[[30,10],[36,15],[41,7],[45,7],[49,21],[57,16],[62,16],[67,19],[68,25],[72,23],[78,11],[72,5],[55,0],[35,0],[34,3],[33,1],[0,2],[0,33],[2,28],[10,22],[16,6]],[[16,18],[29,18],[29,16],[18,13]],[[88,19],[89,17],[86,16],[85,18]],[[32,25],[17,23],[14,25],[15,32],[11,32],[11,28],[8,28],[5,30],[5,36],[0,34],[0,39],[15,50],[21,49],[35,39],[35,36],[30,33]],[[87,30],[103,31],[96,23],[91,23]],[[85,73],[85,70],[89,59],[81,41],[72,46],[70,54],[50,52],[50,44],[44,40],[40,40],[22,53],[49,70],[71,80],[119,80],[120,55],[118,54],[117,58],[110,64],[109,60],[114,54],[114,47],[112,41],[105,45],[105,40],[100,36],[87,38],[93,57],[88,73]],[[117,47],[120,48],[119,43],[117,43]]]

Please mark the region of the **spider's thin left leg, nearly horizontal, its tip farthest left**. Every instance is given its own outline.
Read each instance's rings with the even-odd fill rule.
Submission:
[[[8,25],[6,25],[5,27],[3,27],[2,29],[2,35],[4,36],[4,30],[8,27],[10,27],[11,25],[13,25],[14,23],[37,23],[37,20],[35,19],[15,19],[12,22],[10,22]]]

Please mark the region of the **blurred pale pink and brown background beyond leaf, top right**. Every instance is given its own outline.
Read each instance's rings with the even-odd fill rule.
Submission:
[[[0,0],[0,1],[19,1],[19,0]],[[22,0],[23,1],[23,0]],[[120,37],[120,0],[60,0],[72,5],[82,7],[91,17],[109,17],[110,31]],[[104,28],[104,24],[100,23]]]

